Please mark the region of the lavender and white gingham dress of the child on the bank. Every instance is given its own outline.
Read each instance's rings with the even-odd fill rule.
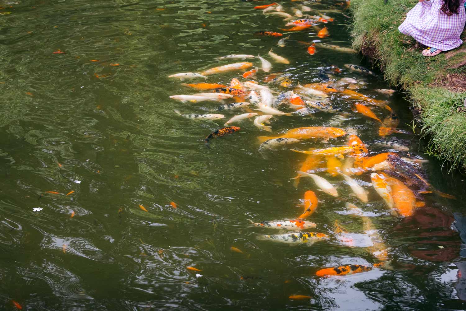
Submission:
[[[459,35],[466,21],[464,3],[465,0],[460,0],[459,14],[448,16],[440,11],[443,0],[419,2],[408,12],[398,30],[430,48],[442,51],[458,48],[463,43]]]

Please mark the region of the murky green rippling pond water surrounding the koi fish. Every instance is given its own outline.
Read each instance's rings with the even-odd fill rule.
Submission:
[[[23,310],[464,310],[466,269],[452,229],[453,213],[460,217],[466,198],[462,176],[445,175],[431,159],[424,166],[430,182],[458,200],[426,195],[426,207],[399,219],[368,184],[369,174],[359,177],[370,192],[367,204],[326,173],[321,176],[339,186],[339,197],[316,191],[306,179],[295,188],[290,178],[305,156],[285,148],[264,159],[256,137],[268,133],[251,121],[234,124],[239,133],[207,149],[203,139],[226,119],[193,121],[173,112],[202,113],[199,108],[218,104],[171,100],[195,91],[167,76],[217,66],[214,57],[266,55],[274,47],[291,64],[273,62],[271,72],[286,71],[304,84],[321,82],[322,67],[338,66],[343,72],[336,78],[366,79],[359,91],[389,100],[401,117],[399,128],[410,131],[412,116],[401,95],[377,94],[371,90],[390,87],[344,69],[360,63],[357,55],[323,49],[308,55],[298,41],[317,39],[314,30],[292,33],[284,48],[276,46],[278,38],[254,36],[284,25],[254,10],[258,4],[265,2],[0,2],[1,309],[15,310],[15,301]],[[291,13],[300,4],[282,5]],[[308,6],[342,10],[335,1]],[[328,14],[336,21],[322,41],[348,47],[348,11]],[[57,50],[64,53],[53,54]],[[228,84],[239,73],[208,82]],[[351,112],[343,97],[331,98],[340,112]],[[328,125],[333,115],[274,118],[272,136]],[[366,142],[378,138],[378,123],[360,114],[340,126],[353,126]],[[411,153],[425,156],[417,136],[394,136],[411,140]],[[312,146],[326,145],[297,145]],[[307,190],[320,200],[311,231],[332,238],[295,247],[258,241],[260,233],[272,232],[246,219],[293,219]],[[363,233],[361,220],[343,213],[345,202],[372,212],[393,270],[315,276],[322,268],[378,262],[333,237],[335,220]]]

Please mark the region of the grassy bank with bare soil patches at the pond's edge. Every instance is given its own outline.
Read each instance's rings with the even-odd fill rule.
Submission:
[[[419,111],[430,152],[449,169],[466,170],[466,44],[435,57],[398,31],[418,0],[352,0],[353,44],[401,86]],[[462,39],[465,41],[466,32]]]

